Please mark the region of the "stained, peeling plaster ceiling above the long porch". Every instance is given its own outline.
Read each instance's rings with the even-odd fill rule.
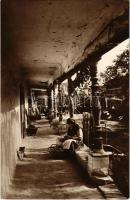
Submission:
[[[81,62],[94,51],[90,43],[128,9],[126,0],[6,2],[6,51],[33,83],[51,82]]]

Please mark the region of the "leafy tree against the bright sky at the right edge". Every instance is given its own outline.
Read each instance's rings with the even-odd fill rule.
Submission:
[[[104,79],[106,93],[109,89],[114,89],[114,96],[122,98],[123,102],[119,109],[119,114],[123,120],[129,121],[129,50],[127,49],[117,56],[112,66],[108,66],[106,71],[101,74]],[[120,88],[118,93],[117,88]]]

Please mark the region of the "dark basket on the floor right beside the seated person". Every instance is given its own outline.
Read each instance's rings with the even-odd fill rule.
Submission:
[[[52,158],[63,159],[67,157],[67,152],[60,145],[57,144],[52,144],[48,148],[48,151]]]

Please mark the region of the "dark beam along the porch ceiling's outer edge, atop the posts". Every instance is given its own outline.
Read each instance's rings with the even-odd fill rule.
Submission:
[[[125,12],[113,19],[102,32],[85,47],[83,52],[84,59],[79,62],[74,68],[68,72],[64,72],[61,76],[54,80],[53,84],[63,82],[65,79],[71,77],[78,70],[82,70],[85,66],[94,59],[100,60],[101,56],[110,49],[124,41],[129,37],[129,11]]]

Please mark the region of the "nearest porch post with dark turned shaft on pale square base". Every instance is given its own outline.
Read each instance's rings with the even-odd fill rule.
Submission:
[[[97,61],[91,61],[90,73],[91,73],[91,82],[92,82],[92,101],[91,101],[91,115],[92,115],[92,124],[93,128],[89,135],[89,147],[91,151],[88,154],[88,173],[89,175],[100,183],[101,173],[102,179],[106,180],[106,177],[109,178],[109,156],[111,152],[105,152],[103,149],[103,138],[102,132],[100,129],[100,113],[101,105],[100,98],[98,95],[98,83],[97,83]],[[105,172],[104,172],[105,169]],[[96,173],[96,175],[94,175]]]

